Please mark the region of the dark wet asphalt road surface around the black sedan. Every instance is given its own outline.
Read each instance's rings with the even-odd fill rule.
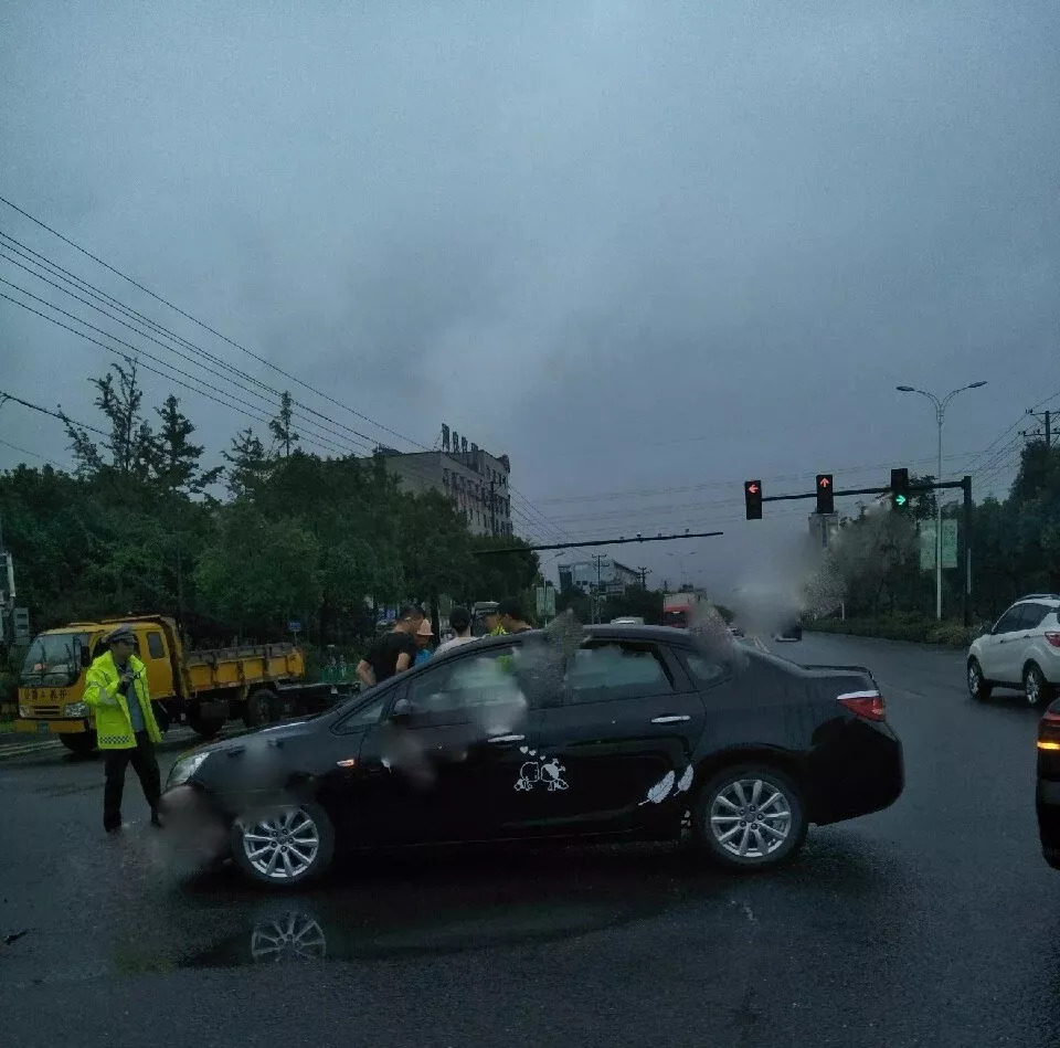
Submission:
[[[346,864],[276,898],[174,869],[135,776],[0,763],[0,1028],[12,1045],[1060,1045],[1060,875],[1034,816],[1038,714],[973,705],[960,653],[810,636],[876,673],[902,737],[892,808],[745,878],[672,847]],[[163,775],[181,747],[167,743]],[[320,963],[275,962],[276,933]],[[256,960],[255,960],[256,959]]]

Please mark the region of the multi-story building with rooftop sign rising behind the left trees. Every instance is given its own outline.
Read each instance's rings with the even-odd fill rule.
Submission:
[[[490,455],[466,436],[442,426],[442,449],[402,454],[390,447],[377,448],[386,469],[413,494],[442,491],[464,514],[473,534],[512,534],[511,463],[507,455]]]

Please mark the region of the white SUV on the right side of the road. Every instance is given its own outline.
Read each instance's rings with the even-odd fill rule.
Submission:
[[[1058,593],[1020,597],[968,648],[968,691],[974,699],[989,698],[994,688],[1019,688],[1031,706],[1045,706],[1058,686]]]

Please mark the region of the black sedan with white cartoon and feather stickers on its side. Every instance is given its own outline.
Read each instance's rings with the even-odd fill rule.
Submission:
[[[596,836],[696,841],[775,866],[810,823],[902,792],[901,743],[868,670],[801,667],[659,626],[464,645],[294,724],[173,766],[165,811],[219,827],[278,886],[336,850]],[[690,818],[689,818],[690,817]]]

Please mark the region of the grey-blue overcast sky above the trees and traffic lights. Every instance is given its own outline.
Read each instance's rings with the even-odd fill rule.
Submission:
[[[1056,0],[4,0],[0,194],[361,415],[507,452],[552,521],[524,534],[723,529],[616,555],[724,590],[810,508],[744,521],[744,478],[934,472],[931,405],[895,384],[989,382],[945,426],[979,494],[1025,410],[1060,410],[1058,40]],[[2,204],[0,231],[344,436],[412,446]],[[107,360],[0,299],[0,389],[98,423]],[[216,461],[248,420],[174,391]],[[0,468],[40,461],[10,444],[70,462],[18,405],[0,441]]]

